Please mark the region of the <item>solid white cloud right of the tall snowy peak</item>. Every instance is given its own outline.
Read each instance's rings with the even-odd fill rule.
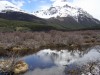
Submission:
[[[83,8],[93,17],[100,20],[100,0],[73,0],[72,4]]]

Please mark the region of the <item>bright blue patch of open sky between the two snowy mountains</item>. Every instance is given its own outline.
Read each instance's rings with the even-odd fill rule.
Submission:
[[[52,2],[50,0],[25,0],[25,4],[22,8],[32,12],[41,9],[42,6],[50,6],[51,4]]]

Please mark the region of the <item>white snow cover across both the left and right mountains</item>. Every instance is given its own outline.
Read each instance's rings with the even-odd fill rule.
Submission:
[[[73,7],[71,4],[67,3],[66,0],[56,0],[52,6],[49,9],[46,10],[39,10],[33,13],[28,13],[26,11],[23,11],[13,3],[6,1],[6,0],[0,0],[0,12],[5,13],[7,11],[17,11],[17,12],[23,12],[29,15],[35,15],[40,18],[59,18],[59,17],[72,17],[75,21],[79,22],[79,20],[85,21],[89,20],[93,21],[93,23],[100,24],[99,21],[94,19],[90,14],[88,14],[86,11],[82,10],[81,8]],[[80,23],[81,23],[80,22]]]

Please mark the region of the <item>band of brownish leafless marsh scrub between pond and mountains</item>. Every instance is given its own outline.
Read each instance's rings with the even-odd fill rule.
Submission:
[[[100,44],[100,30],[48,32],[0,32],[0,56],[32,54],[41,49],[84,50]]]

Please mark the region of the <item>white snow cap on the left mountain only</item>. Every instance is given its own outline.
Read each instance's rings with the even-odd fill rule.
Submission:
[[[9,1],[0,1],[0,12],[5,12],[5,11],[20,11],[22,12],[22,10],[20,8],[18,8],[16,5],[14,5],[13,3],[9,2]]]

